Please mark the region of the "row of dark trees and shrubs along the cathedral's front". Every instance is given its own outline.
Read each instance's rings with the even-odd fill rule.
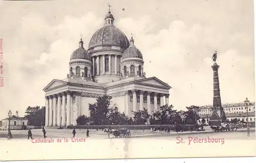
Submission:
[[[150,115],[147,109],[134,111],[133,117],[127,117],[124,113],[110,107],[111,96],[97,98],[94,104],[89,104],[91,117],[81,115],[77,118],[78,125],[85,125],[89,122],[93,125],[143,125],[143,124],[196,124],[199,117],[199,106],[186,107],[187,111],[174,110],[173,105],[164,105],[160,111]],[[183,117],[183,118],[181,118]],[[204,122],[205,123],[205,122]]]

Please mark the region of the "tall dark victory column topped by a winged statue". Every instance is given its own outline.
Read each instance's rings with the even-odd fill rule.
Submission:
[[[219,74],[218,69],[219,65],[216,63],[217,60],[217,51],[215,51],[212,56],[212,61],[214,61],[214,65],[211,66],[212,70],[214,70],[214,101],[213,108],[210,113],[210,126],[221,125],[222,122],[225,122],[226,115],[224,113],[223,107],[221,105],[221,94],[220,94],[220,83],[219,83]]]

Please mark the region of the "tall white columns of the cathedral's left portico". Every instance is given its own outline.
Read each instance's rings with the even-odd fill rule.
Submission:
[[[46,96],[45,126],[76,125],[76,118],[81,113],[80,98],[81,94],[79,92],[71,91]],[[74,108],[73,101],[76,106]]]

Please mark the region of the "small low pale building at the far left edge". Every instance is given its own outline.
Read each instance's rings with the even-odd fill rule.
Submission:
[[[26,117],[19,117],[18,111],[16,111],[16,115],[12,115],[10,117],[10,129],[22,129],[23,126],[28,125],[28,119]],[[2,119],[2,125],[0,125],[1,129],[8,129],[9,126],[9,118]]]

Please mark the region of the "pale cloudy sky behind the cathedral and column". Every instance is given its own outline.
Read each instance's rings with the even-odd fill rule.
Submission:
[[[212,54],[218,50],[222,102],[254,101],[253,1],[130,0],[29,1],[0,4],[4,88],[0,119],[45,105],[44,87],[69,72],[80,35],[88,44],[101,28],[108,3],[115,25],[131,33],[147,77],[173,88],[170,103],[212,103]]]

